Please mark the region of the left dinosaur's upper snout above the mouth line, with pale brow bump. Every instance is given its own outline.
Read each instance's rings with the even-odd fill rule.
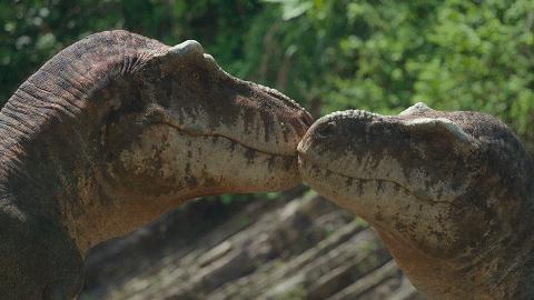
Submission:
[[[164,64],[164,66],[160,66]],[[158,60],[158,106],[166,121],[191,134],[220,136],[247,148],[276,156],[295,156],[313,123],[310,114],[281,92],[235,78],[200,43],[171,47]],[[150,71],[154,73],[154,70]]]

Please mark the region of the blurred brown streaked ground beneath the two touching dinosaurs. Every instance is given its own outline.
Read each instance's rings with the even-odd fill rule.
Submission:
[[[362,219],[279,198],[192,201],[95,248],[79,299],[424,299]]]

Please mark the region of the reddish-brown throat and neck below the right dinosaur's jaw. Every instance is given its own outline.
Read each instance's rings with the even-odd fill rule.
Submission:
[[[520,220],[534,218],[528,204],[534,198],[523,203],[527,204],[515,217],[516,228],[503,229],[500,240],[488,240],[452,259],[433,258],[377,230],[412,283],[429,299],[533,299],[534,234],[530,222]]]

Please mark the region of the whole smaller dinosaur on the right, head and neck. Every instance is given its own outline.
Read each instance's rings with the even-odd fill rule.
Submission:
[[[337,112],[298,150],[304,181],[373,224],[429,299],[534,299],[533,161],[495,118]]]

